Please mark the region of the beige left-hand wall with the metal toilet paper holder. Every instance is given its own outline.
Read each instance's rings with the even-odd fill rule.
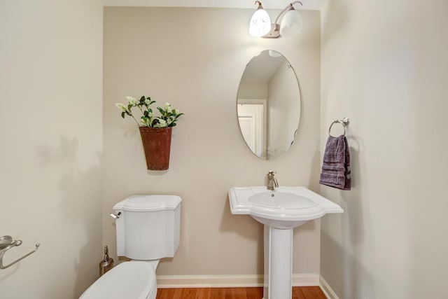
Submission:
[[[102,5],[0,2],[2,299],[78,298],[102,258]]]

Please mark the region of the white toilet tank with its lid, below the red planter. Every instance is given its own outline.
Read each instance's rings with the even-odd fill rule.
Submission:
[[[176,195],[132,195],[113,206],[118,215],[118,256],[132,260],[174,257],[181,236],[181,201]]]

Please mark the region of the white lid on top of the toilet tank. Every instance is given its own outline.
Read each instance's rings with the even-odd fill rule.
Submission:
[[[113,206],[123,211],[162,211],[173,210],[181,204],[177,195],[131,195]]]

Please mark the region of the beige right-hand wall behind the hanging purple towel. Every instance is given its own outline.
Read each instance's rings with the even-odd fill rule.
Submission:
[[[321,274],[339,298],[446,298],[447,1],[328,1],[321,137],[347,116],[353,190],[322,187]],[[323,150],[324,142],[321,144]]]

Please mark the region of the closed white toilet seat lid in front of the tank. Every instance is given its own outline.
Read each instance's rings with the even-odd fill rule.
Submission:
[[[131,261],[106,272],[80,299],[153,299],[157,295],[155,269],[146,261]]]

